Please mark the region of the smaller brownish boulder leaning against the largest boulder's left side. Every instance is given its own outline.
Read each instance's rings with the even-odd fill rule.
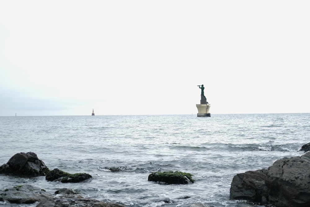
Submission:
[[[239,173],[232,179],[230,199],[260,202],[265,187],[267,169]]]

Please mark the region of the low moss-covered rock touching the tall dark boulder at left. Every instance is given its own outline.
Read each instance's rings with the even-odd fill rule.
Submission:
[[[57,168],[51,170],[49,173],[47,173],[45,177],[45,179],[48,181],[60,181],[60,182],[81,182],[89,178],[92,178],[92,176],[87,173],[70,174]]]

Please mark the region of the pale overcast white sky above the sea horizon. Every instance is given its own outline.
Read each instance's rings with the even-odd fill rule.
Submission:
[[[0,1],[0,116],[309,110],[310,1]]]

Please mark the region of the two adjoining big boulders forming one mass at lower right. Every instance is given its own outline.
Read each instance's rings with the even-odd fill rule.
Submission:
[[[309,169],[310,152],[307,152],[277,160],[267,170],[239,173],[232,179],[230,198],[281,207],[310,206]]]

